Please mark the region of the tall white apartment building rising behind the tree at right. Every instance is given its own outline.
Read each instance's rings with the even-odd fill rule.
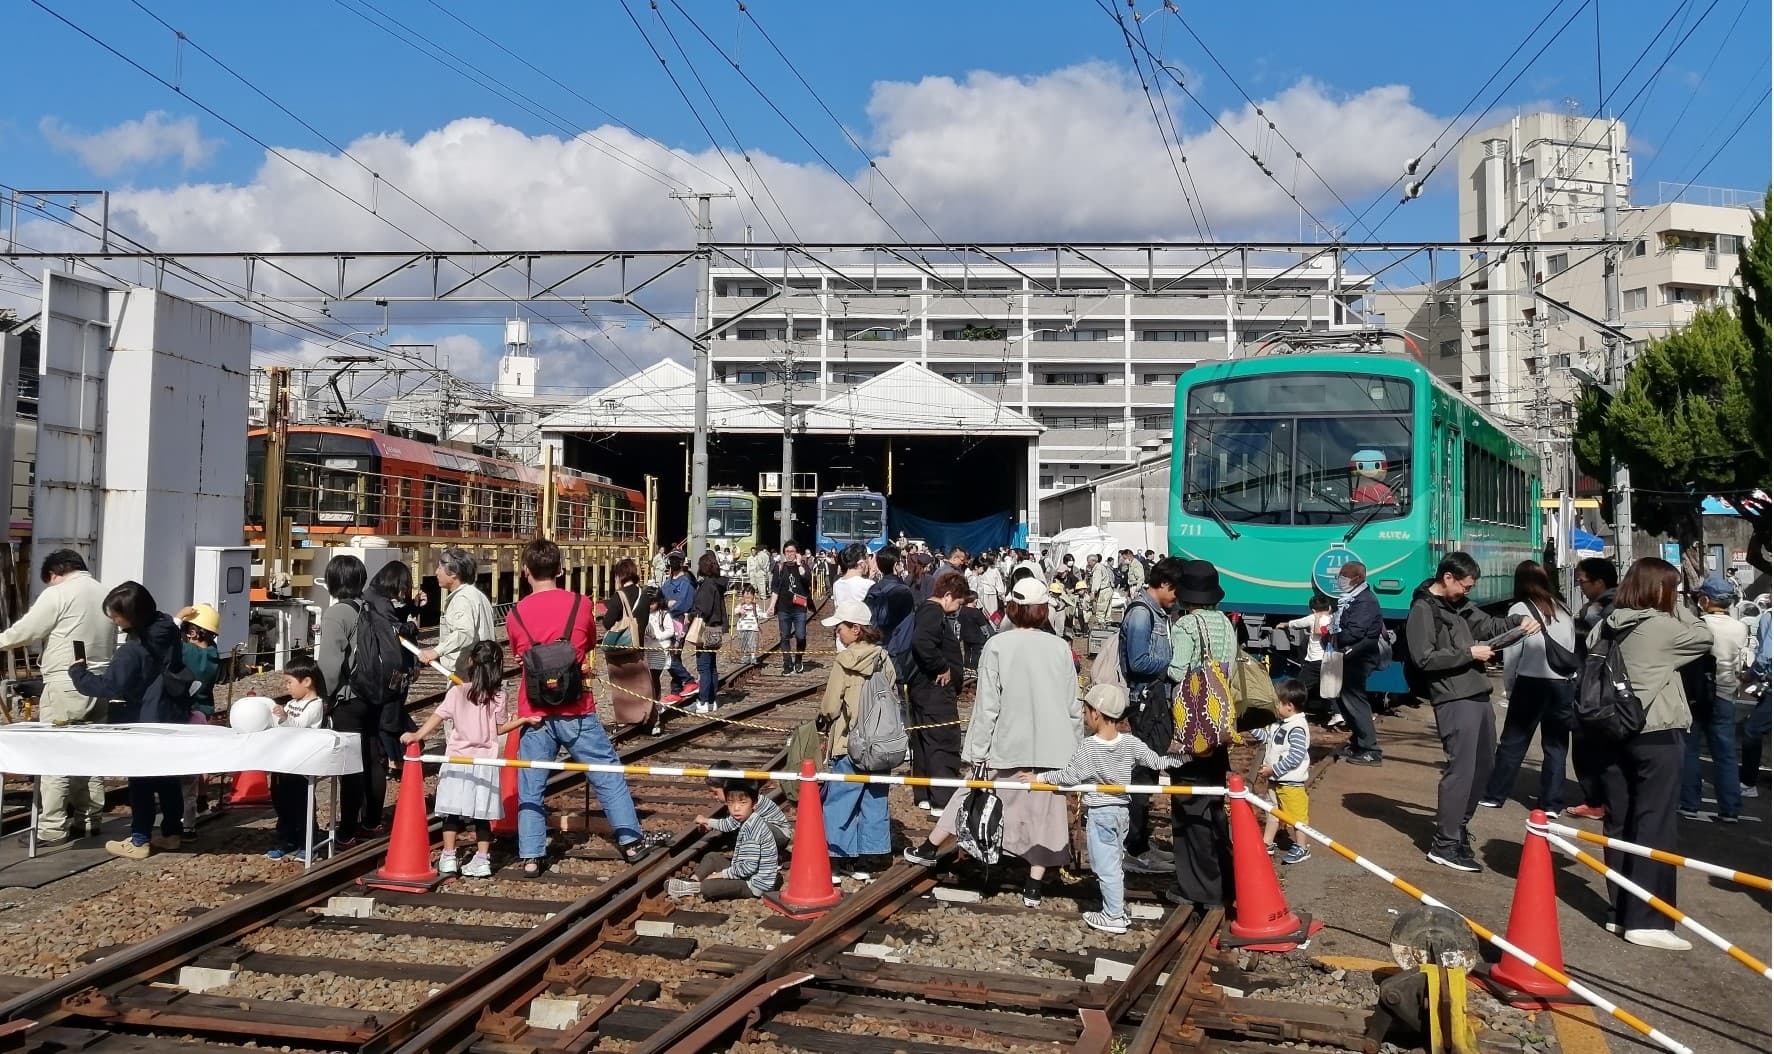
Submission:
[[[1437,373],[1503,415],[1568,426],[1572,369],[1597,378],[1607,371],[1602,332],[1579,318],[1607,318],[1604,252],[1600,245],[1542,250],[1535,243],[1602,241],[1609,185],[1618,236],[1630,241],[1620,261],[1620,328],[1634,344],[1666,335],[1726,296],[1760,193],[1699,188],[1723,204],[1637,204],[1623,122],[1524,114],[1458,147],[1460,238],[1520,241],[1524,250],[1492,259],[1469,254],[1456,289],[1442,284],[1435,296],[1417,289],[1416,311],[1401,312],[1430,326],[1433,348],[1425,353]],[[1570,311],[1535,298],[1536,280]],[[1446,325],[1449,309],[1456,332]]]

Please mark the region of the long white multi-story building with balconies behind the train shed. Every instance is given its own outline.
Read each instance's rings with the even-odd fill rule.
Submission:
[[[1355,321],[1364,279],[1329,257],[1265,263],[1150,275],[1141,264],[1128,282],[1091,268],[1056,273],[1050,263],[1038,277],[999,264],[820,266],[781,279],[784,295],[756,311],[775,291],[770,282],[715,266],[711,323],[738,321],[713,341],[713,378],[770,403],[786,387],[805,406],[899,362],[922,364],[1045,426],[1038,479],[1048,493],[1135,463],[1141,444],[1171,431],[1176,378],[1197,362],[1277,330]]]

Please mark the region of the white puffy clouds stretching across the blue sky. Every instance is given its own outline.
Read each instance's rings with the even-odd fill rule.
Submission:
[[[1194,174],[1190,193],[1199,195],[1197,206],[1213,234],[1222,240],[1291,238],[1297,229],[1293,202],[1181,94],[1173,90],[1169,101]],[[1346,94],[1300,80],[1261,105],[1268,119],[1355,208],[1387,186],[1403,160],[1425,149],[1444,124],[1412,103],[1401,85]],[[1267,144],[1263,158],[1276,176],[1297,186],[1307,208],[1330,218],[1330,193],[1304,167],[1295,174],[1291,151],[1267,128],[1258,133],[1260,119],[1249,106],[1219,114],[1219,119],[1245,149]],[[1125,71],[1107,64],[1071,66],[1038,76],[972,73],[876,83],[867,105],[867,126],[857,137],[871,144],[880,172],[935,227],[935,236],[880,177],[871,179],[837,130],[818,124],[812,115],[804,117],[804,126],[827,156],[850,169],[841,177],[818,161],[750,151],[770,195],[756,186],[752,192],[773,220],[770,197],[782,202],[793,224],[791,232],[777,220],[782,238],[891,238],[869,202],[910,240],[1197,238],[1144,92]],[[163,114],[149,114],[94,137],[73,137],[46,119],[44,135],[51,130],[67,144],[66,149],[80,153],[94,169],[161,156],[177,156],[192,165],[213,149],[197,137],[195,122],[167,121]],[[280,147],[294,165],[337,192],[289,161],[266,156],[243,183],[117,192],[112,222],[169,250],[406,248],[412,238],[433,248],[465,247],[463,234],[428,215],[426,209],[431,209],[490,247],[688,247],[692,220],[681,202],[671,201],[669,186],[635,170],[616,151],[644,158],[681,186],[720,190],[708,176],[727,172],[715,151],[667,149],[621,128],[598,128],[589,135],[600,142],[529,135],[490,119],[463,117],[415,138],[396,133],[362,137],[349,144],[357,161],[334,153]],[[101,140],[105,147],[99,147]],[[738,156],[729,156],[750,183],[752,172]],[[385,183],[374,186],[369,170],[380,172]],[[1442,183],[1448,179],[1451,170],[1437,177]],[[426,209],[404,201],[390,185],[424,202]],[[367,211],[369,206],[376,215]],[[717,236],[724,240],[738,241],[745,224],[754,225],[756,238],[768,238],[747,199],[717,201],[715,224]],[[66,231],[43,224],[30,234],[35,245],[60,247],[71,240]],[[1362,236],[1361,231],[1354,234]],[[314,277],[319,280],[318,273]],[[444,277],[449,279],[447,273]],[[656,300],[649,303],[671,314],[687,312],[687,277],[672,275],[656,284],[648,293]],[[227,279],[238,282],[239,273]],[[412,280],[428,282],[429,270],[424,279],[415,275]],[[259,275],[261,287],[293,287],[279,282],[277,275]],[[397,321],[419,325],[422,312],[406,309]],[[577,328],[578,319],[573,325]],[[662,355],[683,357],[685,348],[679,337],[642,326],[610,332],[628,351],[626,357],[601,337],[591,337],[598,350],[593,351],[541,321],[532,325],[532,335],[546,360],[546,381],[559,385],[608,381],[635,369],[635,362],[646,366]],[[498,337],[483,334],[483,341],[488,353],[465,358],[475,373],[490,373],[490,358],[497,358],[493,348]]]

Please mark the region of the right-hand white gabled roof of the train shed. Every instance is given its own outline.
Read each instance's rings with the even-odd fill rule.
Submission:
[[[901,362],[807,410],[807,431],[1036,437],[1041,424],[917,362]]]

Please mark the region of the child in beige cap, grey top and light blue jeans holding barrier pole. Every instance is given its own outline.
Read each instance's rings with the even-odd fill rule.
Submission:
[[[1126,784],[1134,768],[1176,768],[1176,758],[1162,758],[1146,743],[1123,735],[1121,717],[1126,713],[1126,688],[1093,685],[1084,694],[1084,726],[1091,735],[1079,740],[1071,761],[1064,768],[1041,772],[1038,783],[1077,786],[1080,783]],[[1084,841],[1091,852],[1091,871],[1096,871],[1096,889],[1103,907],[1084,912],[1084,924],[1103,933],[1126,933],[1126,875],[1121,871],[1121,843],[1126,841],[1128,795],[1111,791],[1084,791]]]

